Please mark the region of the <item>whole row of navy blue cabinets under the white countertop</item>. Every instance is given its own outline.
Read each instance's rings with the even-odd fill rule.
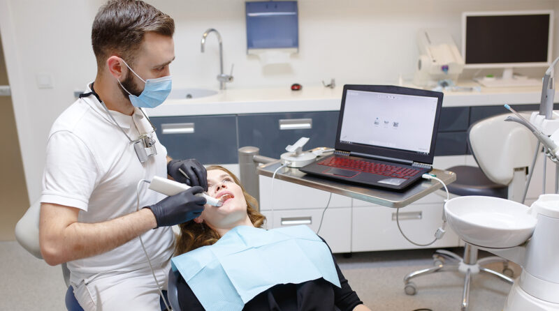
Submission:
[[[514,105],[518,111],[536,111],[539,105]],[[559,109],[556,105],[555,109]],[[504,114],[498,106],[443,107],[435,155],[465,155],[468,128],[481,119]],[[285,147],[310,137],[305,150],[334,147],[340,112],[228,114],[216,116],[159,116],[151,120],[171,158],[196,158],[203,164],[238,163],[238,149],[256,146],[261,155],[279,158]]]

